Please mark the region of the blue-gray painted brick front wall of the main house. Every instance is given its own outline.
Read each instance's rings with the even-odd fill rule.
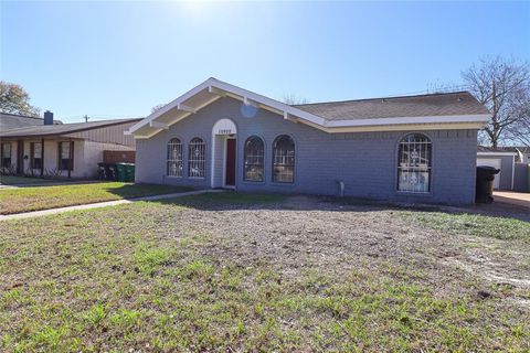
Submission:
[[[212,127],[219,119],[230,118],[237,126],[236,189],[243,191],[293,192],[338,195],[338,181],[346,184],[347,196],[406,202],[473,203],[477,131],[421,131],[433,142],[432,191],[428,194],[405,194],[396,191],[398,142],[407,132],[327,133],[304,124],[259,109],[256,116],[241,114],[242,103],[221,98],[191,117],[172,125],[150,139],[137,140],[136,181],[211,186]],[[414,132],[414,131],[409,131]],[[283,133],[295,140],[296,172],[293,184],[272,181],[272,143]],[[243,181],[243,146],[257,135],[265,141],[265,182]],[[167,142],[179,138],[184,148],[184,178],[165,176]],[[194,137],[206,142],[206,178],[191,180],[188,174],[188,143]],[[219,151],[219,143],[215,143]],[[222,158],[219,152],[218,158]],[[215,180],[219,175],[219,160]]]

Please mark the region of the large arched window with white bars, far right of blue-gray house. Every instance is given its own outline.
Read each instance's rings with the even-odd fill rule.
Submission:
[[[398,190],[431,191],[432,143],[421,133],[410,133],[400,141]]]

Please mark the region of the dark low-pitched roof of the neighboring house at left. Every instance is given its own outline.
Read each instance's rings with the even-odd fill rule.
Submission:
[[[86,130],[98,129],[103,127],[110,127],[115,125],[136,122],[141,119],[114,119],[91,122],[75,122],[75,124],[60,124],[60,125],[41,125],[25,128],[12,129],[8,131],[0,131],[2,138],[24,138],[24,137],[44,137],[44,136],[61,136],[73,132],[81,132]]]

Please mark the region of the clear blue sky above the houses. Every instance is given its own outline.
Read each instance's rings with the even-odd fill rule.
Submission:
[[[1,78],[63,121],[137,117],[210,76],[282,100],[460,83],[530,58],[530,2],[1,2]]]

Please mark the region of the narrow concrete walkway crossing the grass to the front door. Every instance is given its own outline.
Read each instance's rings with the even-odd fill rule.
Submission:
[[[183,197],[183,196],[191,196],[191,195],[200,195],[200,194],[213,193],[213,192],[224,192],[224,190],[198,190],[198,191],[189,191],[189,192],[178,192],[178,193],[172,193],[172,194],[145,196],[145,197],[128,199],[128,200],[127,199],[115,200],[115,201],[106,201],[106,202],[98,202],[98,203],[88,203],[88,204],[85,204],[85,205],[76,205],[76,206],[67,206],[67,207],[60,207],[60,208],[51,208],[51,210],[8,214],[8,215],[0,215],[0,222],[1,221],[8,221],[8,220],[21,220],[21,218],[30,218],[30,217],[40,217],[40,216],[46,216],[46,215],[50,215],[50,214],[64,213],[64,212],[70,212],[70,211],[75,211],[75,210],[91,210],[91,208],[116,206],[116,205],[123,205],[123,204],[134,203],[134,202],[138,202],[138,201],[157,201],[157,200]]]

